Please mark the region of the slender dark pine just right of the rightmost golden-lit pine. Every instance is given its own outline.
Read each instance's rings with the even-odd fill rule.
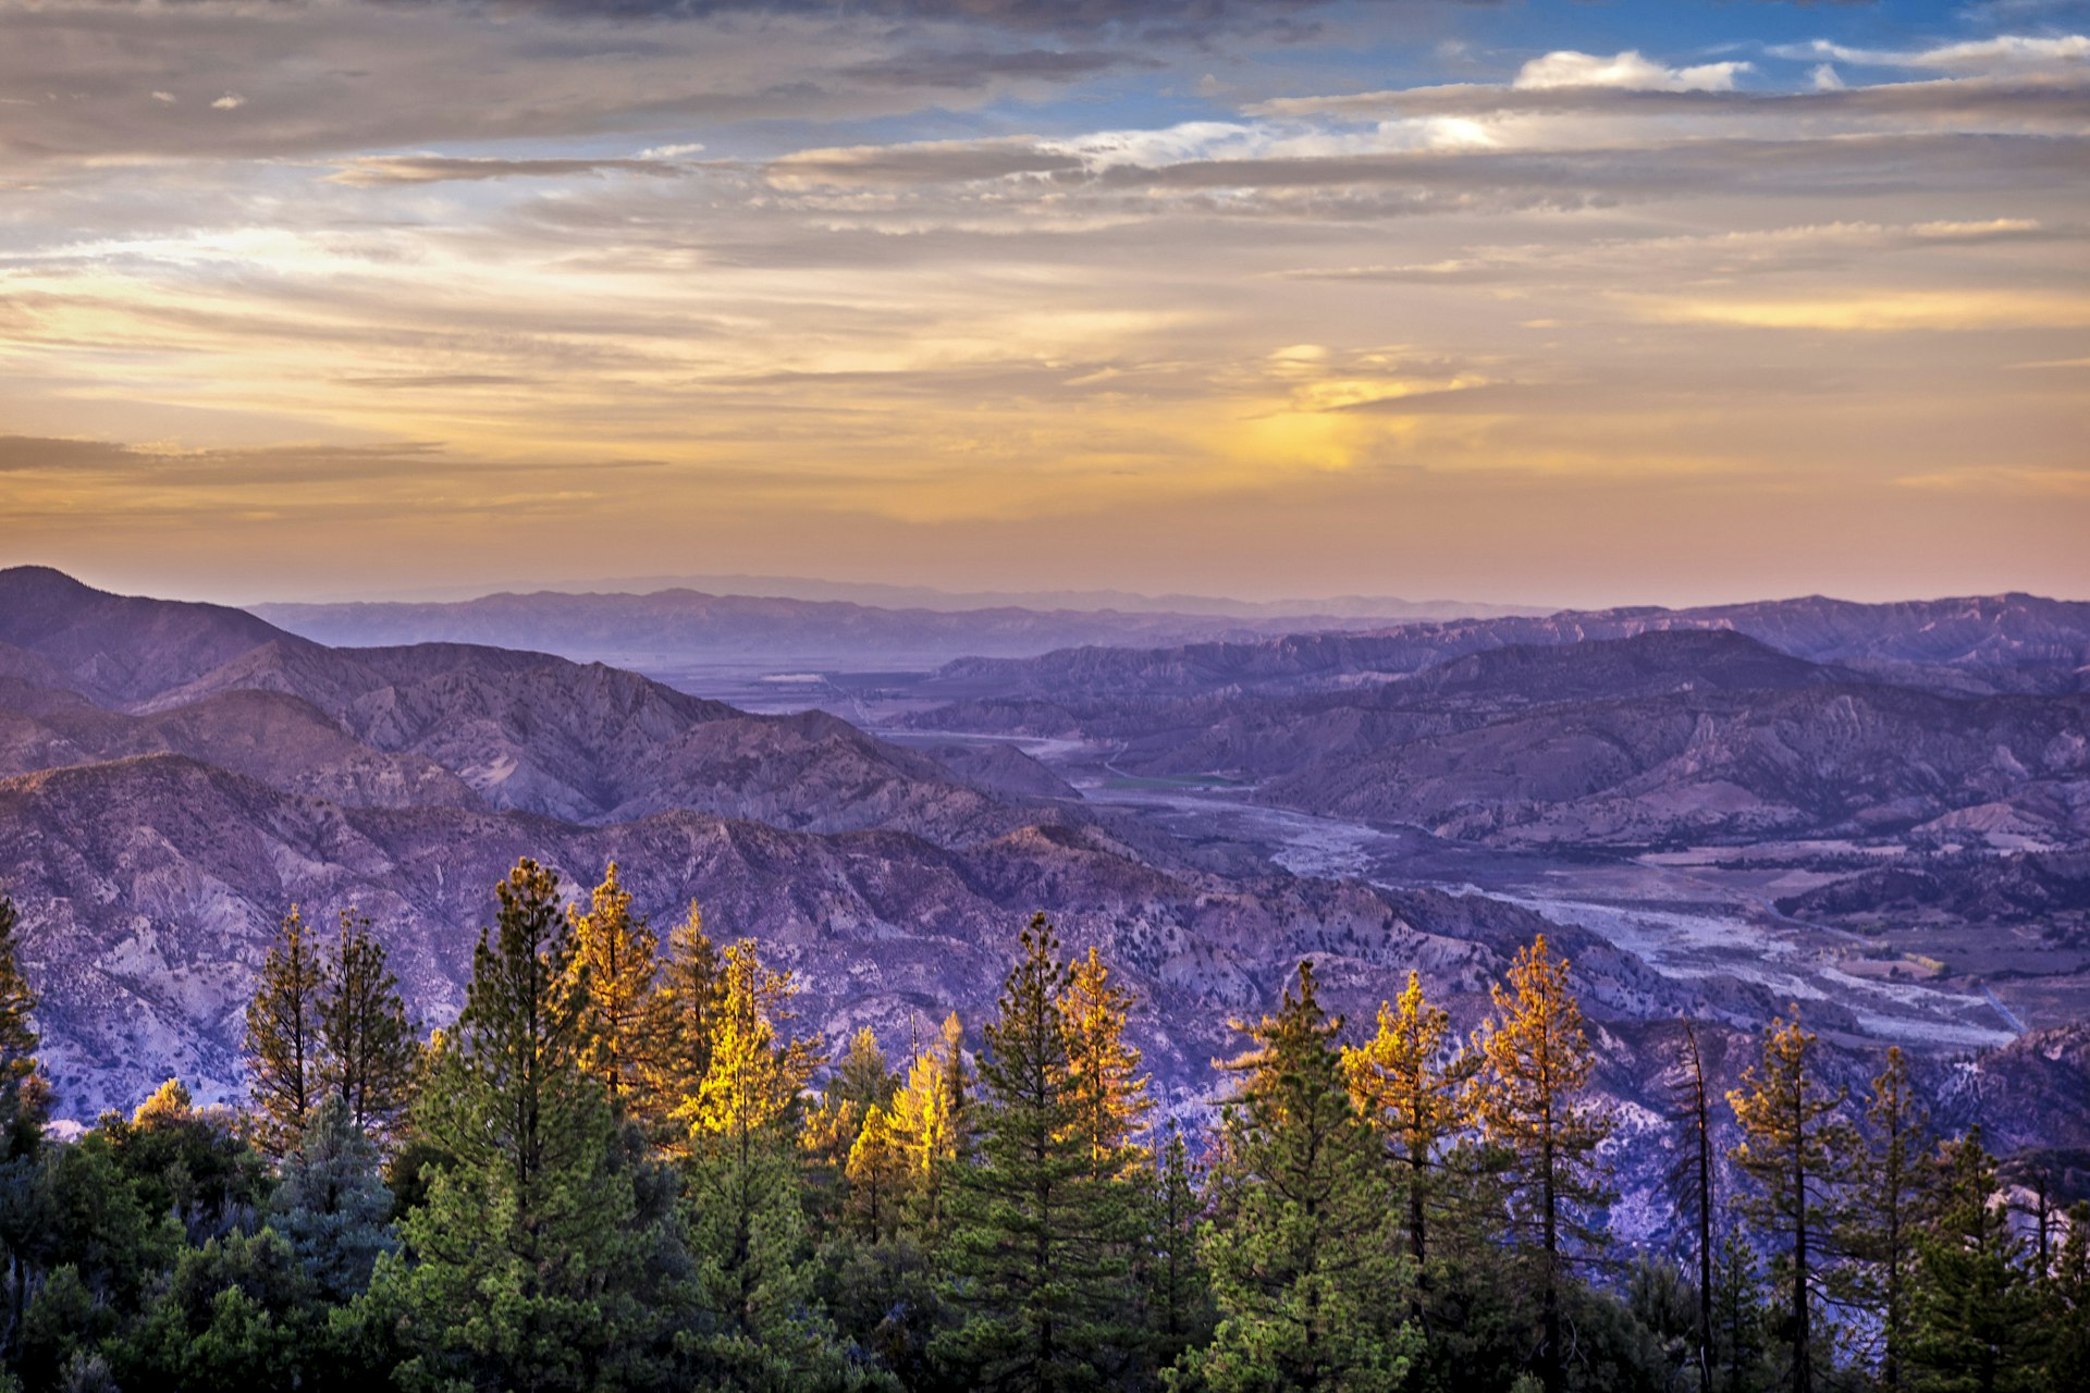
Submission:
[[[1906,1387],[1908,1280],[1931,1209],[1929,1115],[1900,1046],[1887,1048],[1887,1065],[1873,1080],[1866,1124],[1866,1144],[1852,1157],[1839,1247],[1858,1259],[1858,1297],[1879,1322],[1879,1385],[1900,1393]]]

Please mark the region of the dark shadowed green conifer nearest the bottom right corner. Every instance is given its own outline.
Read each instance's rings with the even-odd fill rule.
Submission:
[[[2038,1301],[1981,1132],[1946,1147],[1937,1220],[1917,1241],[1908,1370],[1923,1393],[2034,1393]]]

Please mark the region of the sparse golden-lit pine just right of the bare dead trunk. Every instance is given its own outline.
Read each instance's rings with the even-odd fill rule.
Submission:
[[[1743,1073],[1726,1101],[1743,1132],[1731,1155],[1760,1190],[1747,1213],[1785,1243],[1791,1387],[1812,1393],[1820,1238],[1833,1215],[1829,1190],[1854,1140],[1837,1119],[1843,1092],[1827,1092],[1814,1076],[1814,1034],[1799,1025],[1797,1007],[1791,1017],[1764,1030],[1762,1063]]]

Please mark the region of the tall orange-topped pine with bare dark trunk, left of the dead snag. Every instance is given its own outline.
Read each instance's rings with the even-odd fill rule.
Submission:
[[[1517,952],[1509,986],[1494,984],[1490,994],[1494,1017],[1473,1038],[1486,1061],[1473,1113],[1509,1165],[1515,1224],[1536,1243],[1538,1378],[1547,1393],[1559,1393],[1561,1278],[1570,1243],[1601,1238],[1586,1215],[1607,1199],[1597,1147],[1611,1124],[1584,1101],[1595,1055],[1568,986],[1568,961],[1553,957],[1545,934]]]

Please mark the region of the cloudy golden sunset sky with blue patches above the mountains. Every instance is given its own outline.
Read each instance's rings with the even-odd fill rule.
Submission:
[[[2090,597],[2090,4],[0,0],[0,564]]]

